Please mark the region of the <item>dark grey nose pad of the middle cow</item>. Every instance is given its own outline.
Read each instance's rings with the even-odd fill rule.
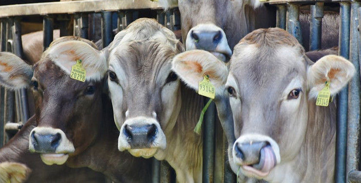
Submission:
[[[132,149],[150,148],[156,139],[158,128],[155,124],[125,125],[123,133]]]

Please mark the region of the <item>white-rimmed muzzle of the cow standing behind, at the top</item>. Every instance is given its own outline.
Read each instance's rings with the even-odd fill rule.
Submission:
[[[187,50],[209,51],[224,62],[228,62],[232,56],[224,31],[214,24],[199,24],[190,29],[185,46]]]

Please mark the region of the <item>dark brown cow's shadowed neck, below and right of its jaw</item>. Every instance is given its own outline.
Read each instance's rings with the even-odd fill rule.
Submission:
[[[145,183],[151,178],[151,160],[136,158],[118,150],[119,130],[107,95],[102,95],[102,122],[96,140],[80,155],[69,158],[71,167],[89,167],[102,172],[114,182]],[[134,176],[139,175],[139,176]]]

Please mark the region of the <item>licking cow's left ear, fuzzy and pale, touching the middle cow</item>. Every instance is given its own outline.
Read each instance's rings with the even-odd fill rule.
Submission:
[[[224,62],[203,50],[191,50],[178,54],[172,61],[172,70],[191,88],[198,90],[205,75],[216,87],[227,81],[228,68]]]

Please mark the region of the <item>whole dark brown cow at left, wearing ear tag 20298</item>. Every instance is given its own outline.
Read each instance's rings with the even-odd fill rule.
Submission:
[[[53,41],[35,65],[11,53],[0,53],[1,84],[11,89],[30,87],[36,105],[35,116],[13,141],[28,140],[20,153],[27,149],[36,153],[32,155],[38,157],[37,163],[41,159],[42,164],[88,167],[116,183],[147,182],[151,176],[147,171],[150,160],[135,158],[117,149],[119,131],[104,88],[107,62],[102,55],[94,43],[77,37]],[[80,60],[86,71],[84,82],[70,78],[72,66]],[[9,145],[3,148],[7,147],[18,148]],[[16,152],[14,156],[18,156]],[[23,158],[29,161],[26,156]],[[32,169],[30,178],[38,176],[34,173],[38,165],[20,163]],[[47,167],[44,172],[59,166]]]

